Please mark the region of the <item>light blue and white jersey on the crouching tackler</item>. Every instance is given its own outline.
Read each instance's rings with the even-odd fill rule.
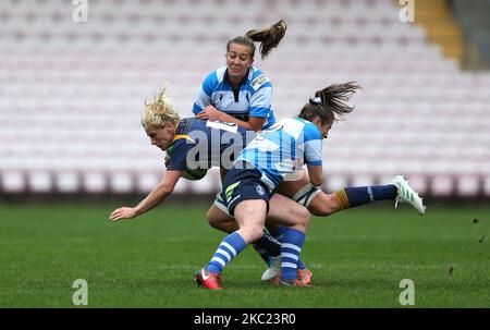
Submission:
[[[257,133],[237,158],[262,173],[262,181],[274,190],[287,174],[303,166],[321,166],[322,137],[318,127],[304,119],[283,119]]]

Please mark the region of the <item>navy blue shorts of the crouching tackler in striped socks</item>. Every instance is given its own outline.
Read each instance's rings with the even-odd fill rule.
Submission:
[[[226,172],[223,190],[218,194],[218,199],[228,209],[229,215],[233,216],[240,201],[250,199],[266,200],[269,212],[269,199],[272,194],[260,178],[259,171],[246,169],[245,166],[242,169],[232,168]]]

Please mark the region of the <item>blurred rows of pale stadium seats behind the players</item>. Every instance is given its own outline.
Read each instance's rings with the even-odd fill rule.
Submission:
[[[356,81],[356,110],[324,144],[327,190],[406,174],[422,195],[490,196],[490,74],[463,72],[401,23],[389,0],[0,2],[0,192],[148,192],[163,155],[140,127],[167,82],[192,115],[225,41],[284,17],[286,37],[256,65],[278,118],[316,89]],[[219,172],[177,193],[219,190]]]

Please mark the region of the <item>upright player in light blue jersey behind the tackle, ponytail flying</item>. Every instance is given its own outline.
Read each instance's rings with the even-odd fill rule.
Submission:
[[[272,83],[254,66],[255,41],[260,42],[265,59],[278,47],[287,25],[284,20],[262,28],[252,29],[226,42],[226,65],[204,80],[194,102],[193,112],[199,119],[235,123],[250,131],[270,127],[275,118],[271,107]]]

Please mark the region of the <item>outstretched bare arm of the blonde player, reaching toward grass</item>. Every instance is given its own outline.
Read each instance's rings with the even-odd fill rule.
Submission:
[[[136,207],[121,207],[109,216],[111,221],[135,218],[162,203],[170,194],[181,178],[182,171],[168,170],[161,181]]]

